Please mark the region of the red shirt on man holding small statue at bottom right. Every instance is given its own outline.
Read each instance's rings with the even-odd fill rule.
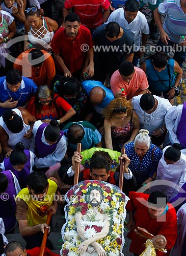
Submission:
[[[126,209],[128,211],[135,211],[135,222],[137,227],[145,228],[149,233],[156,236],[157,234],[163,234],[167,239],[166,249],[168,253],[162,253],[156,250],[156,255],[168,256],[171,248],[174,246],[177,238],[177,216],[174,207],[168,203],[168,211],[165,215],[157,219],[152,219],[148,213],[146,202],[149,195],[137,192],[129,193],[130,200],[127,202]],[[143,204],[138,201],[137,198],[143,201]],[[139,238],[135,231],[130,231],[127,237],[131,239],[130,252],[140,255],[145,250],[145,241],[147,239]]]

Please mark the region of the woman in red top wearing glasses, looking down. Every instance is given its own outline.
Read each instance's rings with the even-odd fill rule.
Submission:
[[[37,120],[42,120],[44,123],[56,119],[61,124],[75,115],[72,106],[57,93],[54,94],[46,85],[38,88],[36,95],[30,99],[26,109]],[[66,112],[65,115],[63,114],[64,111]]]

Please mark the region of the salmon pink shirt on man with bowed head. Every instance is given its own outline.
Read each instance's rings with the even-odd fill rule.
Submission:
[[[111,77],[111,90],[113,91],[113,94],[115,95],[124,88],[127,99],[139,95],[141,90],[146,90],[148,87],[149,85],[145,72],[137,67],[135,67],[134,76],[129,83],[122,79],[119,70],[116,70]]]

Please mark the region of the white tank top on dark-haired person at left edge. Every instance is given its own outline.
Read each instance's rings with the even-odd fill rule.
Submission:
[[[22,118],[21,112],[18,109],[13,109],[12,111],[14,111],[18,116],[20,116]],[[3,117],[0,117],[0,125],[3,127],[3,129],[6,131],[6,133],[9,136],[8,139],[8,145],[9,147],[11,147],[13,150],[15,148],[15,145],[18,142],[22,142],[24,144],[25,149],[29,149],[30,144],[31,144],[31,139],[25,139],[23,138],[23,135],[25,133],[27,133],[28,130],[30,130],[30,125],[25,124],[22,118],[22,122],[23,122],[23,129],[20,133],[12,133],[10,132],[10,130],[8,129],[6,123],[3,121]]]

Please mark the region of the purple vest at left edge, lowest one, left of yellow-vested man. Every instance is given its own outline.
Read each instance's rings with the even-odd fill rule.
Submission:
[[[0,195],[0,217],[3,219],[5,224],[5,230],[9,230],[15,227],[15,197],[16,190],[14,184],[14,178],[9,170],[4,170],[2,174],[5,174],[8,178],[8,187],[5,192]],[[8,196],[7,200],[5,196]]]

